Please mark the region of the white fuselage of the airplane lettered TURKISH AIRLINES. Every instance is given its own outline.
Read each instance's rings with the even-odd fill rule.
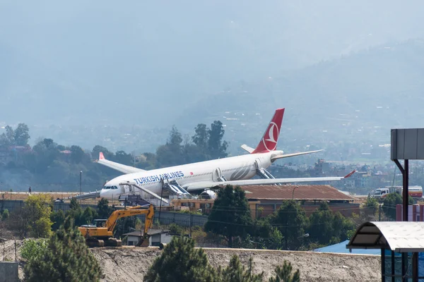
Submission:
[[[160,194],[162,183],[160,179],[176,180],[181,186],[189,183],[201,183],[202,181],[219,182],[218,178],[226,180],[245,180],[252,178],[257,173],[257,168],[271,166],[271,156],[283,154],[283,151],[273,151],[261,154],[246,154],[237,157],[201,161],[194,164],[170,166],[167,168],[129,173],[118,176],[107,182],[100,191],[100,197],[117,199],[119,195],[129,193],[127,185],[119,186],[119,183],[136,183],[143,188],[156,194]],[[139,190],[134,191],[136,194]]]

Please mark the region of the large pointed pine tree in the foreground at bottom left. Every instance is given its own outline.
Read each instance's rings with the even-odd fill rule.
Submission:
[[[25,281],[100,281],[100,265],[88,250],[85,239],[66,218],[49,238],[48,247],[24,268]]]

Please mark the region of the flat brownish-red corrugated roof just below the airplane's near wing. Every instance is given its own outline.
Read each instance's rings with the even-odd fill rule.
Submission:
[[[257,200],[343,200],[353,201],[330,185],[245,185],[247,199]],[[294,192],[293,192],[294,190]]]

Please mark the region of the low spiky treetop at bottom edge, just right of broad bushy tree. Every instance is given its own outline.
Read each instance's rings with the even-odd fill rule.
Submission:
[[[247,269],[242,265],[237,255],[233,255],[230,264],[225,269],[218,269],[216,282],[262,282],[264,272],[254,274],[253,259],[250,257]]]

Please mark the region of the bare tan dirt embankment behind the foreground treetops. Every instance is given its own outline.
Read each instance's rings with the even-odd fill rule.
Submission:
[[[214,266],[227,266],[232,255],[239,255],[247,265],[253,256],[256,272],[264,271],[266,278],[284,259],[300,269],[302,281],[380,281],[379,256],[341,255],[319,252],[285,252],[269,250],[209,249],[205,248],[209,262]],[[97,248],[93,254],[105,272],[102,281],[143,281],[148,267],[160,255],[154,247]]]

